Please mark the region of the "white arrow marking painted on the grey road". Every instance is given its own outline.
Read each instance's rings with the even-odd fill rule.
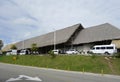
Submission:
[[[23,80],[22,78],[25,78],[25,80],[30,80],[30,81],[39,81],[39,82],[42,81],[38,77],[30,77],[30,76],[27,76],[27,75],[19,75],[19,77],[17,77],[17,78],[10,78],[6,82]]]

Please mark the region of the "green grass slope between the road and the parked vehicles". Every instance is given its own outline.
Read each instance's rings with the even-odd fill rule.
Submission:
[[[101,70],[105,74],[120,75],[120,59],[111,59],[112,70],[103,56],[56,56],[56,58],[50,58],[49,56],[38,55],[23,55],[18,59],[13,60],[14,56],[0,56],[0,62],[20,64],[27,66],[54,68],[71,71],[84,71],[92,73],[101,73]],[[114,70],[114,72],[113,72]]]

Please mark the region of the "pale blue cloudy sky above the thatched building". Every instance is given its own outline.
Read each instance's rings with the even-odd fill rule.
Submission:
[[[0,0],[4,45],[81,23],[120,29],[120,0]]]

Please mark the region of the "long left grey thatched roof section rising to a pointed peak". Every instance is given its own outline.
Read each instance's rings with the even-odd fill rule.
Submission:
[[[72,34],[78,29],[83,28],[81,24],[76,24],[61,30],[55,31],[56,34],[56,44],[65,43],[69,40]],[[54,44],[54,32],[50,32],[41,36],[33,37],[25,41],[20,41],[16,43],[18,49],[31,48],[31,44],[36,43],[38,47],[44,47]]]

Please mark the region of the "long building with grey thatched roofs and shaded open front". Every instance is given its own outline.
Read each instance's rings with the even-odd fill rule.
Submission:
[[[120,48],[120,29],[104,23],[97,26],[84,28],[81,24],[76,24],[61,30],[56,30],[44,35],[26,39],[15,43],[18,50],[30,49],[35,43],[39,48],[39,53],[60,49],[65,52],[69,49],[87,52],[94,45],[115,44]],[[10,46],[6,45],[3,50],[9,51]]]

